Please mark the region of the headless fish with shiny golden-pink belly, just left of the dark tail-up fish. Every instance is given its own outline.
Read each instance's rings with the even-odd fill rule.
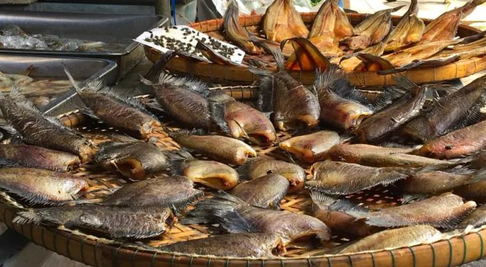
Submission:
[[[267,145],[276,140],[274,125],[262,112],[223,92],[210,96],[212,119],[233,138],[244,138],[253,144]]]

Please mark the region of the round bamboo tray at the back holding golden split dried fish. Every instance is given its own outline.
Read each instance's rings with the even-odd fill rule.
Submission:
[[[311,26],[315,15],[316,12],[301,13],[303,21],[308,26]],[[351,23],[356,25],[366,18],[367,15],[348,13],[348,17]],[[394,16],[394,23],[396,23],[398,19],[399,17]],[[249,31],[255,31],[256,26],[260,25],[260,21],[262,21],[262,15],[246,15],[240,17],[240,24],[248,27]],[[430,19],[424,19],[424,21],[428,23],[430,22]],[[224,35],[221,33],[222,25],[222,19],[212,19],[190,24],[190,26],[197,31],[207,33],[218,39],[224,39]],[[477,28],[461,25],[458,29],[458,36],[466,37],[479,32],[480,31]],[[145,55],[152,62],[156,62],[159,58],[160,51],[145,46]],[[169,64],[167,64],[167,68],[181,74],[197,76],[209,83],[235,85],[251,84],[255,80],[258,80],[258,76],[252,74],[246,67],[210,64],[207,62],[192,61],[181,57],[171,60]],[[486,57],[460,60],[436,68],[413,69],[405,71],[403,74],[414,83],[432,83],[466,77],[482,71],[483,69],[486,69]],[[314,82],[314,71],[290,71],[290,74],[304,85],[311,85]],[[349,72],[349,79],[355,85],[363,87],[394,84],[392,75],[378,75],[374,71]]]

